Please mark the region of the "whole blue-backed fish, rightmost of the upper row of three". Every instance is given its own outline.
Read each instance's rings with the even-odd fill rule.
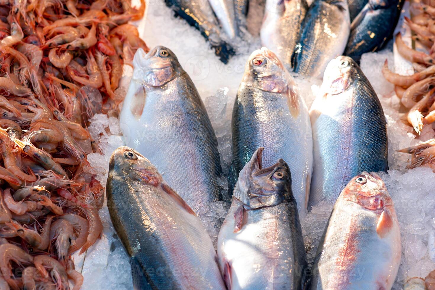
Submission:
[[[328,64],[311,110],[313,179],[309,207],[334,203],[345,185],[364,170],[388,168],[384,112],[375,90],[350,57]]]

